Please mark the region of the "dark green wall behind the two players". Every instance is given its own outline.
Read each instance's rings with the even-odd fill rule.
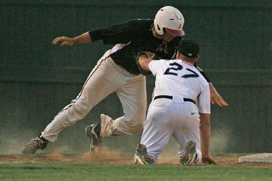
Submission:
[[[7,0],[0,1],[0,153],[19,153],[55,114],[75,99],[103,53],[102,41],[53,46],[57,36],[135,18],[154,18],[165,5],[180,9],[184,38],[200,44],[199,66],[229,107],[212,106],[211,151],[272,150],[272,1],[270,0]],[[148,104],[154,78],[147,76]],[[88,151],[86,125],[105,113],[123,115],[116,94],[60,133],[46,151]],[[106,140],[111,149],[133,152],[140,133]],[[171,141],[174,145],[173,141]],[[177,147],[168,151],[177,151]]]

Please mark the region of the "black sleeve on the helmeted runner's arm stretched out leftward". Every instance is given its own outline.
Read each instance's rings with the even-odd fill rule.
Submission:
[[[107,28],[91,30],[89,34],[91,41],[103,40],[104,44],[129,43],[137,36],[140,29],[139,21],[130,20]]]

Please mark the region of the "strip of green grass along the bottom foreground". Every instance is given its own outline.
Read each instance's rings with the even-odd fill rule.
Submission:
[[[101,163],[1,163],[0,181],[272,181],[272,169]]]

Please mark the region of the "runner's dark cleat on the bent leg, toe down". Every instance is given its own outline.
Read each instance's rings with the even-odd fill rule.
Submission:
[[[100,138],[101,125],[100,123],[86,126],[85,133],[90,138],[90,151],[102,149],[102,139]]]

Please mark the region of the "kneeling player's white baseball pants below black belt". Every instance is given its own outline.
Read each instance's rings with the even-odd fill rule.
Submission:
[[[158,161],[158,154],[173,136],[179,144],[178,155],[184,153],[189,141],[196,143],[197,157],[201,159],[199,134],[200,119],[197,106],[182,99],[173,100],[160,98],[154,100],[148,109],[144,123],[141,144],[147,148],[147,153]]]

